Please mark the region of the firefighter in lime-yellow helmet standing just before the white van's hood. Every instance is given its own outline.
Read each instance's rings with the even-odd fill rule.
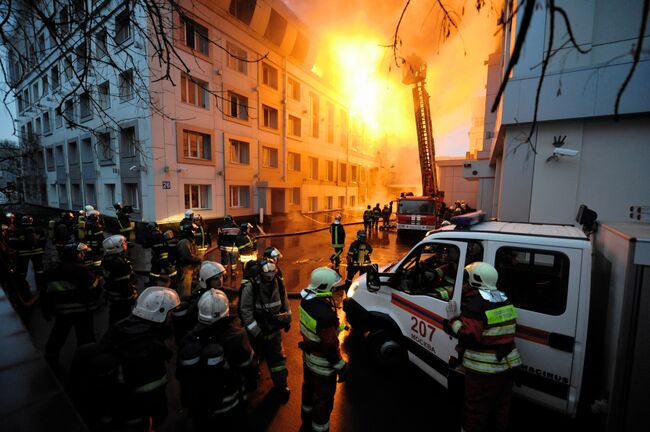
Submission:
[[[309,286],[300,292],[300,333],[302,341],[303,382],[300,416],[303,429],[328,431],[334,407],[336,377],[345,381],[347,364],[339,350],[342,327],[332,298],[341,285],[334,270],[319,267],[311,272]]]

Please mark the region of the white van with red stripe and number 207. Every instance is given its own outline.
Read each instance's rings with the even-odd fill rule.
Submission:
[[[482,212],[428,233],[395,263],[359,277],[344,302],[353,329],[368,331],[382,362],[408,358],[447,387],[457,339],[443,320],[453,300],[462,308],[463,271],[485,261],[517,308],[521,386],[515,393],[574,416],[585,360],[591,243],[578,228],[483,222]]]

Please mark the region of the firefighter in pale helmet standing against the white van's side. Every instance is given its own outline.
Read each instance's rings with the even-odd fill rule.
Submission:
[[[458,338],[465,369],[465,412],[467,432],[506,431],[515,370],[521,366],[515,347],[517,311],[497,289],[499,274],[482,261],[465,267],[468,291],[478,295],[463,302],[462,312],[451,301],[443,329]],[[463,296],[468,296],[463,293]]]

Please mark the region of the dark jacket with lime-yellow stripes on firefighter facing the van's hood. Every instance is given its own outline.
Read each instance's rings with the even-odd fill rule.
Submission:
[[[345,367],[339,350],[341,331],[336,309],[331,301],[309,290],[300,293],[300,333],[305,367],[323,376],[334,375]]]

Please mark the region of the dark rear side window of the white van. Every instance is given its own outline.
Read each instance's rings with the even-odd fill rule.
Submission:
[[[569,258],[560,252],[501,247],[495,268],[497,286],[521,309],[562,315],[569,287]]]

